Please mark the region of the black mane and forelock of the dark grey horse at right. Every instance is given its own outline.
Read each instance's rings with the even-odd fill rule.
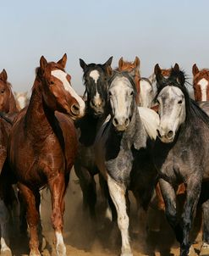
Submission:
[[[178,77],[183,77],[182,81],[178,80]],[[159,89],[157,90],[157,96],[166,86],[178,87],[183,93],[185,98],[185,108],[186,108],[186,122],[190,120],[191,116],[197,116],[209,127],[209,116],[206,112],[199,107],[199,105],[190,97],[190,93],[186,88],[187,77],[183,70],[171,70],[171,74],[168,79],[164,78],[159,83]],[[156,98],[157,98],[156,96]],[[190,121],[189,121],[190,123]]]

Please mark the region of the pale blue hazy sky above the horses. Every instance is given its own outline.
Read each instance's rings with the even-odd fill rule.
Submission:
[[[41,55],[58,61],[78,93],[85,88],[79,58],[103,64],[140,58],[140,74],[175,63],[192,79],[192,65],[209,68],[207,0],[1,1],[0,70],[15,92],[31,90]]]

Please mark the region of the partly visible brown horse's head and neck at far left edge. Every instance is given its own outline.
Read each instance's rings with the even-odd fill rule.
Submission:
[[[0,73],[0,112],[8,114],[18,112],[6,70]]]

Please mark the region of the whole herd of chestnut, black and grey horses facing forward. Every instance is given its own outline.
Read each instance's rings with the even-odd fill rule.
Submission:
[[[83,208],[96,220],[96,181],[104,202],[118,221],[121,256],[132,256],[129,244],[129,191],[145,211],[157,195],[180,245],[180,256],[196,255],[190,231],[201,205],[203,237],[200,255],[209,255],[209,70],[193,65],[195,100],[183,70],[158,64],[148,78],[140,76],[140,59],[113,57],[86,64],[84,97],[74,92],[58,62],[43,56],[29,101],[18,103],[5,70],[0,74],[0,224],[1,252],[9,248],[8,220],[20,205],[22,229],[30,231],[30,256],[40,253],[41,189],[52,198],[52,227],[59,256],[63,242],[64,195],[74,166]],[[23,95],[21,95],[23,97]],[[179,193],[184,202],[179,208]],[[26,222],[25,222],[26,216]]]

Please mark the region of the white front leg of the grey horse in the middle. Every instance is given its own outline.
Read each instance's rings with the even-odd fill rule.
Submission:
[[[107,185],[118,214],[118,228],[121,232],[121,256],[133,256],[129,245],[129,216],[126,212],[126,187],[107,175]]]

